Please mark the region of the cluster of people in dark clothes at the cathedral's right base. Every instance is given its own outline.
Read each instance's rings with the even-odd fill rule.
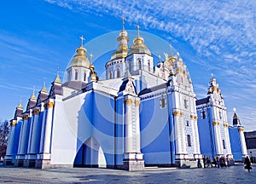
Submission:
[[[204,164],[204,168],[207,167],[213,167],[212,164],[214,165],[214,167],[218,167],[218,168],[223,168],[223,167],[230,167],[230,158],[227,156],[226,158],[224,156],[221,157],[216,157],[213,158],[213,162],[211,161],[210,157],[205,157],[203,155],[202,157],[203,160],[203,164]]]

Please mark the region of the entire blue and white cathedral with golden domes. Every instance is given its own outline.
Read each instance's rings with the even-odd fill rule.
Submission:
[[[243,127],[228,124],[215,78],[197,100],[180,55],[155,62],[139,29],[131,46],[125,26],[99,79],[82,44],[47,91],[16,107],[4,164],[35,168],[145,166],[195,168],[202,155],[241,160]],[[236,157],[234,157],[236,156]],[[235,160],[236,161],[236,160]]]

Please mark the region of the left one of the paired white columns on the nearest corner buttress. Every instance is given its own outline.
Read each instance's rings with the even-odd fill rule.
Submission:
[[[132,100],[125,100],[125,152],[132,152],[132,119],[131,119]]]

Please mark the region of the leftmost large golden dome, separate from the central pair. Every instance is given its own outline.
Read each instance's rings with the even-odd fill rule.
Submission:
[[[83,66],[90,69],[90,61],[86,56],[86,52],[87,50],[83,46],[80,46],[78,49],[76,49],[77,54],[73,56],[73,59],[69,62],[67,68],[73,66]]]

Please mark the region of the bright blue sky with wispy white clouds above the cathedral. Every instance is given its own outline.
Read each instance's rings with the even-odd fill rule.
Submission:
[[[109,48],[118,46],[120,17],[125,16],[130,39],[139,25],[154,55],[163,55],[167,47],[161,53],[151,49],[157,43],[150,43],[147,34],[172,44],[188,66],[198,99],[207,96],[213,73],[229,124],[236,107],[245,130],[256,130],[255,9],[252,0],[0,1],[0,121],[13,118],[20,101],[26,108],[33,89],[38,95],[44,80],[49,90],[58,71],[64,77],[81,36],[92,53],[96,53],[90,48],[92,43],[94,49],[108,46],[101,60],[99,55],[93,58],[98,59],[96,72],[103,72]],[[109,33],[113,41],[101,41]]]

